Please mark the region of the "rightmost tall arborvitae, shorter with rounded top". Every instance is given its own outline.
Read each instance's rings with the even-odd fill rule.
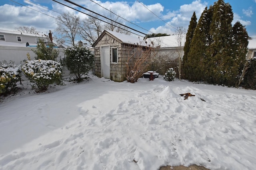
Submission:
[[[232,28],[232,54],[229,59],[231,67],[229,67],[230,76],[227,78],[228,86],[237,86],[242,70],[246,63],[246,54],[248,46],[248,34],[243,25],[237,21]]]

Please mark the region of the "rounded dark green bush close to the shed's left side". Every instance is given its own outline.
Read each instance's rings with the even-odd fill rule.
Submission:
[[[71,74],[75,74],[78,82],[87,74],[94,65],[94,55],[86,47],[69,47],[65,50],[65,58],[62,60]]]

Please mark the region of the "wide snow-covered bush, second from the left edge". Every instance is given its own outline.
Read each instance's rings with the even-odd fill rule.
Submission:
[[[37,92],[46,91],[50,84],[64,85],[62,82],[62,66],[52,60],[26,61],[22,66],[25,76],[34,83],[32,88]]]

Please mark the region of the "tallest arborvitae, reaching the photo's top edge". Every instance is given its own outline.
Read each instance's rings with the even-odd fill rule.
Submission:
[[[230,4],[224,0],[214,2],[210,35],[212,43],[209,45],[211,83],[223,84],[226,82],[226,61],[231,55],[233,12]]]

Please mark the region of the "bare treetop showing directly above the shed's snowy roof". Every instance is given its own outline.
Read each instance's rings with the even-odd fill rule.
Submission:
[[[108,18],[110,18],[110,20],[107,20],[108,23],[104,24],[104,29],[131,35],[129,30],[123,26],[126,24],[126,21],[124,21],[119,15],[114,14],[111,9],[109,10]],[[118,23],[122,23],[123,25]]]

